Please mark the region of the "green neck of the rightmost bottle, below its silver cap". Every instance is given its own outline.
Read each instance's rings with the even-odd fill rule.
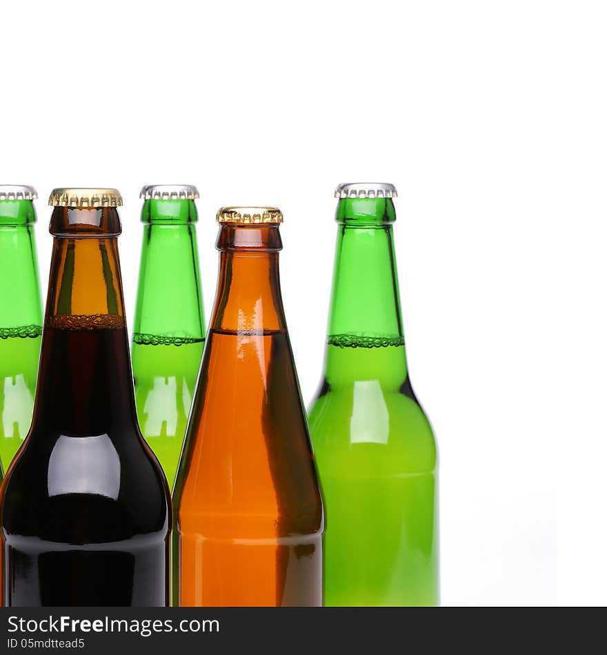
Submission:
[[[326,378],[330,384],[407,376],[392,234],[391,199],[344,199],[329,316]]]

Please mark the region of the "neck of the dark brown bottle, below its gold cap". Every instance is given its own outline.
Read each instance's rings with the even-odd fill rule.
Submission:
[[[53,212],[34,428],[92,436],[136,425],[119,232],[112,208]]]

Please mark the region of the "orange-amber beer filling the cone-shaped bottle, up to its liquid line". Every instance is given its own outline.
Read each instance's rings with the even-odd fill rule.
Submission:
[[[192,408],[205,438],[174,499],[181,605],[321,605],[322,510],[288,336],[214,329],[208,342]]]

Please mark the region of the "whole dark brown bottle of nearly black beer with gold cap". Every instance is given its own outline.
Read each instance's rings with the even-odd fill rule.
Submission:
[[[2,487],[7,606],[163,606],[172,521],[143,440],[114,189],[56,189],[34,419]]]

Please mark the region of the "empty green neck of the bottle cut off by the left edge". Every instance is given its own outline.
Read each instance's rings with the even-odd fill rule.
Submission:
[[[41,334],[35,220],[32,201],[0,201],[0,338]]]

